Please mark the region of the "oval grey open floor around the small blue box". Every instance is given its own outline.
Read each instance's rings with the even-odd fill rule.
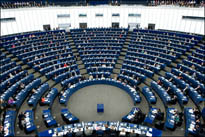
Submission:
[[[104,113],[97,113],[104,104]],[[134,106],[129,94],[110,85],[93,85],[76,91],[68,101],[68,109],[80,121],[121,121]]]

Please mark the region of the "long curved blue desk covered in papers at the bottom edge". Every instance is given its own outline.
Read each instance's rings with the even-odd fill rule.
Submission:
[[[107,125],[107,126],[105,126]],[[125,122],[110,122],[110,121],[96,121],[96,122],[82,122],[64,125],[61,127],[49,129],[38,133],[39,137],[52,137],[52,136],[83,136],[87,135],[87,131],[90,131],[92,136],[93,132],[101,134],[115,132],[117,134],[123,134],[124,136],[128,134],[143,135],[143,136],[153,136],[160,137],[162,131],[150,128],[147,126],[125,123]]]

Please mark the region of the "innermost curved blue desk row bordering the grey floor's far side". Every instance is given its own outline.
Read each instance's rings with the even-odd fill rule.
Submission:
[[[113,79],[105,78],[105,79],[92,79],[92,80],[80,81],[79,83],[75,84],[74,87],[64,91],[63,95],[60,97],[60,103],[66,104],[66,102],[69,100],[69,98],[74,92],[76,92],[77,90],[83,87],[95,85],[95,84],[106,84],[106,85],[116,86],[118,88],[121,88],[122,90],[125,90],[131,96],[132,100],[134,101],[134,104],[139,103],[141,101],[141,97],[139,96],[139,93],[134,88],[130,87],[129,85],[124,85]]]

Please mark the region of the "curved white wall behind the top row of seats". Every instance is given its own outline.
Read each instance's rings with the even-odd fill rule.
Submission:
[[[87,17],[79,18],[80,13],[87,14]],[[104,16],[95,17],[96,13],[103,13]],[[120,17],[112,17],[112,13],[120,13]],[[141,17],[128,17],[129,13],[141,14]],[[57,14],[70,14],[70,18],[59,19]],[[87,22],[88,27],[111,27],[112,22],[120,22],[120,27],[140,23],[142,28],[154,23],[156,29],[204,34],[204,21],[182,20],[182,15],[203,17],[204,9],[126,5],[1,9],[1,18],[16,17],[15,22],[1,23],[1,35],[43,30],[45,24],[55,28],[58,24],[71,23],[71,28],[78,28],[80,22]]]

